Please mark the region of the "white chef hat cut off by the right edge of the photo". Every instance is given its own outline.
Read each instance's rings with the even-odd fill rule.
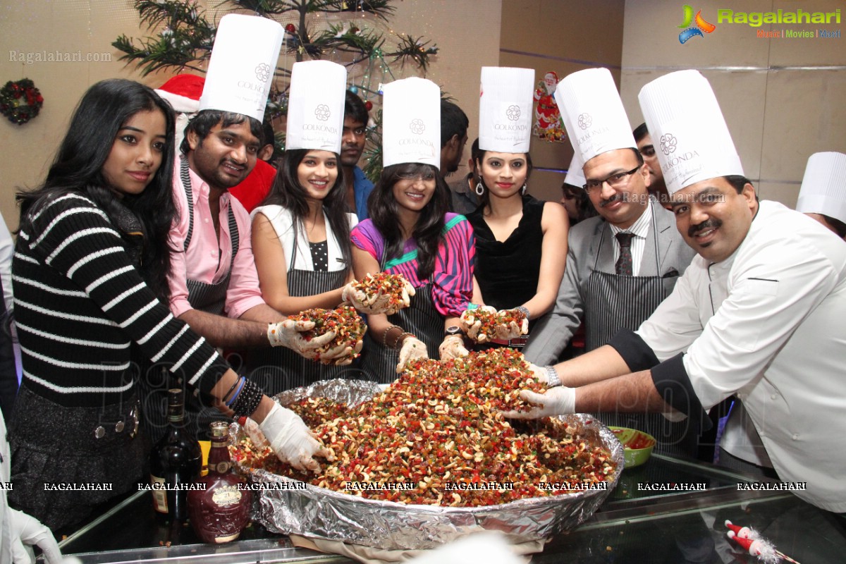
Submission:
[[[824,152],[810,156],[796,210],[846,222],[846,155]]]

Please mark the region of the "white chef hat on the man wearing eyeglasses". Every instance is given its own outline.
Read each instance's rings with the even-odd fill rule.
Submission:
[[[565,76],[555,90],[564,127],[581,162],[636,148],[623,101],[607,68],[585,68]]]

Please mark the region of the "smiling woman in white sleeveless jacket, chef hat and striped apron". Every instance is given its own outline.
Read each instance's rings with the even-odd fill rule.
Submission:
[[[294,63],[286,151],[270,194],[252,213],[261,297],[286,315],[338,307],[352,281],[349,230],[358,219],[346,211],[338,157],[346,79],[346,68],[337,63]],[[272,394],[353,374],[350,355],[320,364],[274,348],[250,351],[247,358],[250,378]]]

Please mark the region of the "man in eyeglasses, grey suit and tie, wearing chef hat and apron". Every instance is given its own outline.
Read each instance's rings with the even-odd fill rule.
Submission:
[[[585,162],[583,189],[599,216],[570,229],[555,307],[538,320],[523,351],[541,365],[558,361],[583,320],[585,351],[601,347],[620,329],[637,329],[673,291],[695,255],[678,233],[673,214],[649,195],[649,170],[610,74],[589,73],[585,83],[589,87],[574,90],[565,105],[558,105],[578,117],[585,114],[579,109],[582,103],[592,103],[596,96],[603,101],[601,112],[586,112],[594,126],[586,130],[590,140],[580,134],[578,122],[569,124],[569,138],[577,145],[571,167]],[[671,424],[660,414],[601,413],[599,418],[646,430],[659,441],[659,451],[695,456],[698,437],[688,432],[687,424]]]

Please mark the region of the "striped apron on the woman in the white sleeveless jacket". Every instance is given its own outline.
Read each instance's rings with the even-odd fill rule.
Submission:
[[[293,297],[312,296],[330,292],[343,286],[347,271],[304,271],[297,269],[297,238],[294,229],[294,256],[288,269],[288,293]],[[268,396],[312,382],[333,378],[360,379],[361,371],[355,367],[333,366],[305,359],[289,348],[274,347],[251,350],[248,355],[250,380],[258,384]]]

